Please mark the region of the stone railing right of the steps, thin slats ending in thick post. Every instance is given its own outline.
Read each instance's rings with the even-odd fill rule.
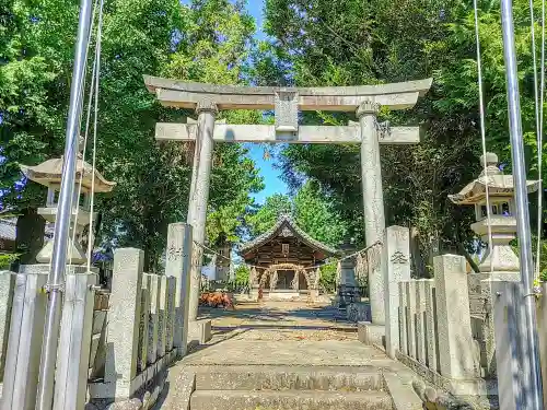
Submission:
[[[465,258],[434,258],[434,279],[398,283],[399,349],[396,356],[454,396],[486,396],[480,348],[472,331]]]

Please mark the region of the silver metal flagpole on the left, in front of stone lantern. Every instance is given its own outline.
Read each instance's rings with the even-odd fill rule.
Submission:
[[[42,362],[38,378],[37,410],[50,410],[54,398],[54,377],[57,361],[57,344],[59,339],[61,292],[65,284],[70,220],[72,218],[72,196],[75,180],[78,140],[80,136],[80,118],[84,90],[85,63],[88,60],[88,43],[90,39],[92,0],[81,0],[78,39],[74,51],[74,68],[70,86],[70,103],[67,119],[65,143],[65,161],[62,179],[55,223],[51,270],[49,271],[46,291],[48,304],[44,341],[42,345]]]

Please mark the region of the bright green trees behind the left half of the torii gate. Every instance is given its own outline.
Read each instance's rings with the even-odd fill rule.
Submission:
[[[186,220],[194,147],[158,144],[158,121],[194,115],[163,108],[142,75],[242,83],[255,26],[243,2],[112,0],[105,4],[98,112],[97,167],[117,183],[100,196],[101,239],[140,247],[146,269],[163,254],[167,225]],[[18,163],[59,156],[78,23],[78,1],[0,4],[0,190],[2,206],[38,207],[36,184],[15,189]],[[91,71],[91,63],[89,63]],[[231,122],[258,122],[258,113],[222,113]],[[218,144],[210,189],[210,243],[234,241],[249,195],[261,189],[255,164],[235,144]]]

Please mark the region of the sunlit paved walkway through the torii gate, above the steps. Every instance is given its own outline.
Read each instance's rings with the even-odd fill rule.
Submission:
[[[386,366],[386,355],[357,340],[357,327],[327,305],[299,302],[238,304],[208,308],[213,339],[189,354],[194,365]]]

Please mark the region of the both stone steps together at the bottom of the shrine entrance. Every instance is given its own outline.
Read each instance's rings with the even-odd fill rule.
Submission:
[[[190,410],[398,410],[374,366],[197,365],[186,372],[195,377]]]

